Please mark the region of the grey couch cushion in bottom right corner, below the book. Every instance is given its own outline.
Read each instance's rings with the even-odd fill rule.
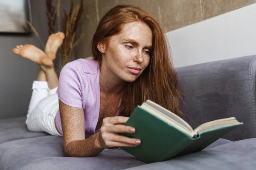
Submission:
[[[126,170],[255,170],[256,138]]]

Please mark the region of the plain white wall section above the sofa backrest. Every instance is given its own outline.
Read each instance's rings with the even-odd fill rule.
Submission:
[[[256,54],[256,4],[166,33],[174,66]]]

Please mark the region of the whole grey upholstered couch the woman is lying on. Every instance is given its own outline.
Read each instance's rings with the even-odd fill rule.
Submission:
[[[200,152],[152,164],[114,149],[89,158],[64,157],[62,137],[29,132],[26,118],[17,117],[0,120],[0,170],[255,170],[255,60],[239,57],[176,69],[193,128],[231,116],[244,122]]]

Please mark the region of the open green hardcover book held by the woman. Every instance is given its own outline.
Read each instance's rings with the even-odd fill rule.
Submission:
[[[141,140],[136,147],[120,147],[145,163],[166,161],[175,156],[198,152],[221,138],[236,126],[235,117],[204,123],[195,130],[183,119],[160,105],[147,100],[135,108],[124,125],[135,133],[119,133]]]

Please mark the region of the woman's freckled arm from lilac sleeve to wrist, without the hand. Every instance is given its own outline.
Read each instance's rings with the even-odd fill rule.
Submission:
[[[63,129],[64,154],[69,157],[95,156],[104,150],[99,146],[98,133],[85,139],[83,108],[68,106],[59,100]]]

